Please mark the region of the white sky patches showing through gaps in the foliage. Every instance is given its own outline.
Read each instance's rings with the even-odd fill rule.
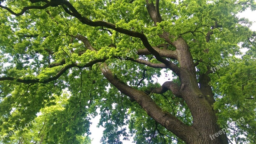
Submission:
[[[250,9],[245,10],[242,13],[239,13],[237,16],[239,16],[239,18],[248,18],[250,21],[253,22],[253,25],[251,26],[251,30],[256,31],[256,11],[251,11]],[[246,49],[242,49],[242,52],[245,52]],[[161,85],[168,81],[169,77],[165,77],[163,70],[161,71],[162,75],[157,78],[157,82],[160,83]],[[168,73],[169,76],[172,76],[171,72]],[[100,111],[97,110],[97,112],[99,113]],[[100,144],[100,139],[103,136],[103,130],[104,128],[102,126],[97,127],[98,123],[100,121],[100,115],[96,116],[94,119],[91,120],[92,125],[90,127],[90,132],[92,133],[91,135],[89,135],[92,139],[92,144]],[[127,127],[127,126],[124,126]],[[128,131],[127,131],[128,133]],[[120,138],[122,139],[122,138]],[[133,139],[131,138],[131,140],[127,141],[127,140],[123,140],[123,144],[132,144]],[[233,143],[235,143],[233,141]]]

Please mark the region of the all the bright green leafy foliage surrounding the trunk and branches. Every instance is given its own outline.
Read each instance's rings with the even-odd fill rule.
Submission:
[[[181,35],[188,42],[193,58],[204,61],[196,67],[198,74],[204,73],[206,66],[215,67],[230,56],[239,55],[241,48],[238,44],[242,43],[242,48],[248,48],[249,51],[241,59],[234,58],[235,61],[227,67],[211,74],[211,85],[216,97],[214,107],[219,110],[219,124],[223,127],[244,117],[245,122],[236,125],[239,126],[236,127],[237,132],[228,133],[231,138],[241,143],[256,141],[255,32],[249,29],[251,22],[236,17],[238,12],[248,7],[255,10],[255,1],[184,0],[176,3],[174,0],[161,0],[159,7],[163,21],[157,26],[148,15],[145,0],[135,0],[132,3],[129,0],[69,2],[84,17],[143,32],[152,46],[164,43],[157,36],[163,31],[177,37]],[[24,6],[29,5],[35,4],[28,0],[15,0],[7,4],[15,12],[20,12]],[[215,25],[216,22],[218,25]],[[211,30],[213,34],[207,42],[205,36]],[[83,66],[92,60],[106,58],[113,74],[133,88],[147,90],[160,86],[159,83],[154,83],[153,76],[159,77],[161,69],[126,60],[113,65],[116,57],[125,58],[128,52],[143,49],[144,46],[138,38],[110,31],[112,34],[102,30],[102,27],[82,24],[68,15],[61,6],[44,10],[32,9],[19,17],[0,8],[0,75],[39,79],[42,82],[56,76],[66,65],[76,62]],[[70,35],[76,34],[87,37],[97,51],[87,50],[77,39],[70,43]],[[116,47],[109,47],[110,44]],[[74,53],[71,54],[71,50]],[[49,51],[54,54],[49,54]],[[79,55],[80,51],[85,52]],[[133,53],[130,57],[136,59],[139,56]],[[159,63],[152,55],[140,58]],[[66,62],[63,66],[48,68],[50,63],[59,63],[63,59]],[[6,68],[10,64],[13,65]],[[117,133],[111,134],[107,139],[102,137],[102,143],[122,143],[121,135],[124,139],[130,139],[133,135],[136,143],[183,143],[150,118],[136,102],[131,102],[129,97],[113,87],[102,75],[99,65],[97,63],[90,68],[70,68],[57,80],[45,84],[0,81],[0,135],[36,120],[36,124],[5,138],[3,142],[18,143],[23,140],[27,143],[39,143],[43,140],[42,143],[91,143],[90,119],[98,114],[96,109],[99,108],[99,126],[105,128],[103,134],[119,128]],[[143,70],[147,70],[145,80],[136,87],[143,78]],[[179,83],[178,79],[174,79]],[[174,97],[170,91],[162,95],[151,94],[150,97],[164,111],[187,125],[192,125],[191,113],[182,99]],[[137,119],[135,122],[128,122],[131,115]],[[117,126],[126,123],[130,124],[129,133]]]

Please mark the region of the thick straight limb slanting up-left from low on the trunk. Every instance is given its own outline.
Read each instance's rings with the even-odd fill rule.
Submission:
[[[185,125],[179,119],[174,117],[168,112],[164,112],[148,95],[144,92],[133,89],[127,84],[120,82],[117,77],[113,77],[112,72],[108,69],[104,63],[104,67],[101,68],[103,75],[108,81],[113,84],[118,90],[127,95],[128,97],[135,99],[138,104],[148,113],[150,117],[155,119],[159,124],[166,129],[177,135],[184,141],[190,141],[191,133],[195,136],[194,131],[190,126]]]

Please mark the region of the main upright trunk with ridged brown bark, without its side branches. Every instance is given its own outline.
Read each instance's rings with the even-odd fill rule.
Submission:
[[[152,4],[153,3],[149,4],[147,0],[148,13],[156,25],[157,22],[161,22],[162,20],[157,5],[159,4],[159,0],[156,0],[156,7],[152,6]],[[212,32],[207,34],[207,41],[210,40],[211,34]],[[199,133],[197,142],[210,144],[228,144],[228,138],[226,134],[222,134],[212,139],[210,137],[221,131],[221,128],[217,124],[216,111],[214,111],[211,106],[214,103],[214,99],[211,86],[208,84],[210,82],[210,78],[208,76],[209,72],[203,76],[200,76],[201,81],[205,81],[204,83],[201,83],[200,89],[196,78],[196,69],[194,66],[193,58],[189,51],[187,42],[181,37],[172,42],[170,37],[174,36],[170,35],[168,32],[164,32],[159,36],[164,38],[167,43],[176,47],[176,53],[178,55],[177,59],[180,63],[180,73],[177,73],[181,82],[180,95],[185,100],[189,110],[192,113],[192,128]],[[210,95],[210,97],[208,98],[207,95]],[[185,142],[191,143],[189,141]]]

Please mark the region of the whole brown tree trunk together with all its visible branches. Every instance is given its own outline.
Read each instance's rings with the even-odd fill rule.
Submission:
[[[68,1],[50,1],[47,0],[30,0],[32,3],[36,2],[45,2],[44,6],[30,6],[25,7],[20,13],[15,13],[9,8],[5,6],[1,6],[7,11],[11,12],[15,16],[22,15],[25,11],[29,9],[45,9],[49,6],[57,6],[61,5],[63,9],[70,14],[71,16],[76,17],[83,24],[90,26],[101,26],[106,27],[108,29],[115,30],[120,33],[127,34],[132,37],[140,38],[144,45],[144,49],[140,49],[138,51],[139,55],[148,55],[153,54],[156,59],[161,64],[153,64],[149,61],[140,60],[140,59],[127,59],[130,61],[138,62],[141,64],[148,65],[153,68],[169,68],[174,73],[176,73],[180,78],[181,85],[178,85],[173,82],[166,82],[162,87],[156,88],[154,90],[148,90],[148,93],[164,93],[167,90],[171,90],[173,94],[177,97],[183,98],[186,104],[189,107],[189,110],[193,116],[193,125],[187,126],[175,116],[171,115],[168,112],[164,112],[145,92],[133,89],[127,84],[121,82],[117,77],[114,77],[111,70],[108,69],[105,63],[102,64],[101,71],[103,75],[108,79],[108,81],[113,84],[118,90],[122,93],[134,99],[144,110],[148,113],[150,117],[156,120],[157,123],[164,126],[166,129],[177,135],[180,139],[184,140],[189,144],[199,144],[199,143],[209,143],[209,144],[225,144],[228,143],[227,136],[222,134],[215,139],[211,140],[210,135],[214,133],[218,133],[221,128],[217,125],[217,117],[216,111],[213,110],[212,104],[214,103],[214,95],[212,93],[211,86],[208,84],[211,80],[208,76],[210,73],[209,69],[206,73],[201,74],[199,76],[199,84],[198,86],[197,78],[196,78],[196,69],[195,64],[192,58],[191,53],[189,52],[189,47],[187,42],[180,36],[176,41],[172,42],[170,37],[173,37],[169,32],[164,32],[159,35],[159,37],[163,38],[167,43],[176,48],[175,51],[167,50],[167,46],[164,49],[160,49],[158,47],[152,47],[146,36],[143,33],[134,32],[130,30],[126,30],[123,28],[116,27],[116,25],[105,22],[105,21],[91,21],[88,18],[82,17],[81,14],[70,4]],[[162,21],[162,18],[159,13],[159,0],[156,0],[156,5],[154,3],[147,3],[147,10],[149,16],[154,21],[154,24]],[[212,32],[208,32],[206,40],[209,41]],[[71,35],[72,36],[72,35]],[[82,35],[72,36],[76,39],[79,39],[84,42],[85,47],[90,50],[95,50],[88,39],[86,39]],[[95,50],[96,51],[96,50]],[[81,52],[80,54],[82,54]],[[180,67],[171,61],[166,60],[163,57],[167,57],[173,60],[178,60]],[[98,62],[104,62],[106,59],[94,60],[84,65],[84,67],[91,67],[93,64]],[[62,61],[59,64],[51,64],[49,67],[63,65],[65,61]],[[0,81],[16,80],[20,83],[48,83],[50,81],[54,81],[59,78],[67,69],[72,67],[79,67],[76,63],[72,65],[65,66],[56,76],[49,78],[43,82],[40,82],[38,79],[32,80],[23,80],[19,78],[13,77],[0,77]]]

